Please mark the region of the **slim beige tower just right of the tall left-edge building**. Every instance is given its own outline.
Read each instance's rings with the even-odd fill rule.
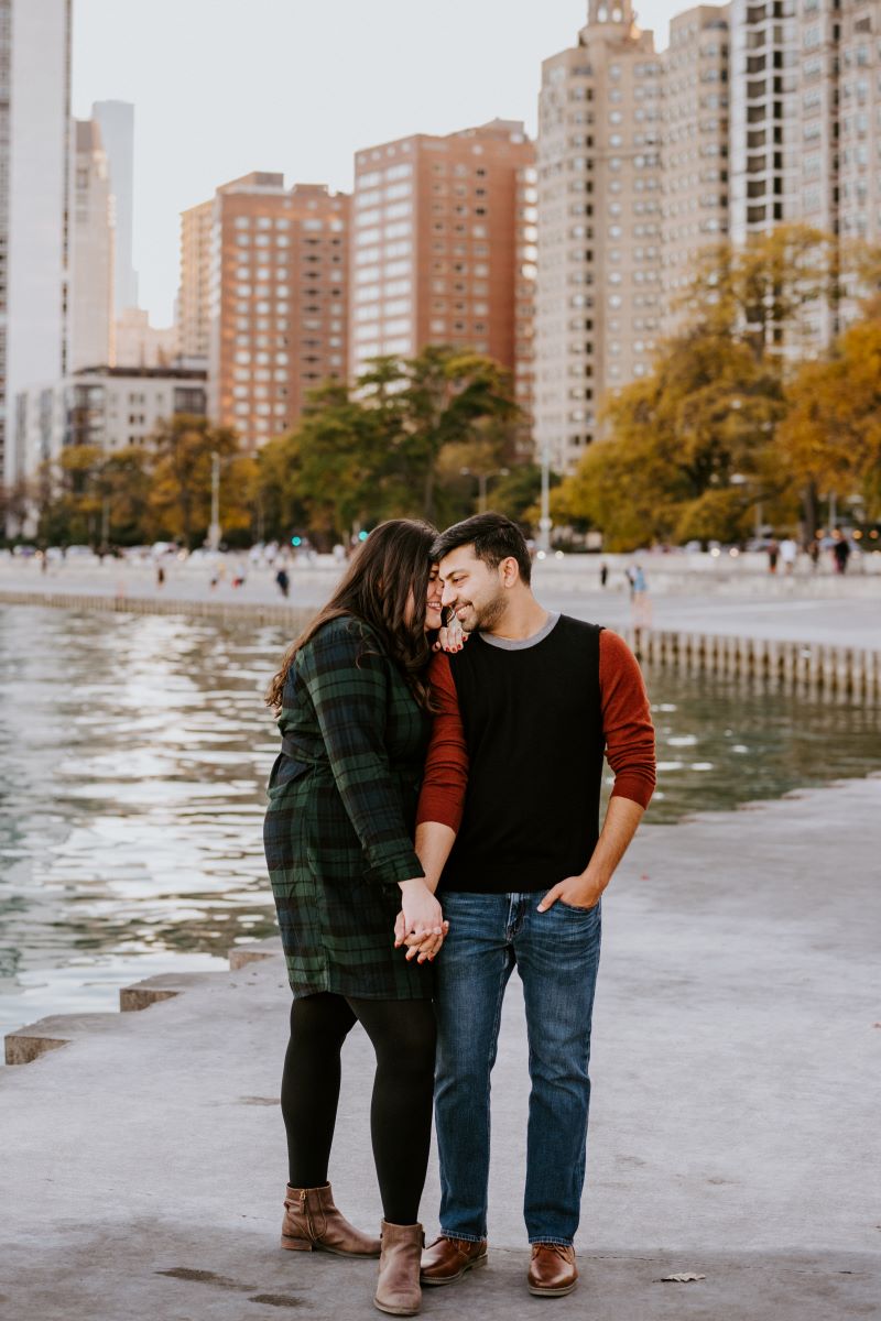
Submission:
[[[114,362],[114,207],[94,119],[74,122],[70,367]]]

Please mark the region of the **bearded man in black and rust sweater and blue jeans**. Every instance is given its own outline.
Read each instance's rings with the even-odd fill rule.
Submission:
[[[557,1297],[577,1281],[600,896],[651,798],[654,731],[625,642],[536,601],[514,523],[478,514],[441,534],[432,553],[444,605],[473,637],[433,660],[441,709],[416,835],[449,921],[436,992],[441,1234],[421,1279],[452,1284],[486,1262],[490,1073],[516,966],[532,1083],[527,1283]],[[604,752],[616,781],[600,832]],[[456,836],[442,823],[465,766]]]

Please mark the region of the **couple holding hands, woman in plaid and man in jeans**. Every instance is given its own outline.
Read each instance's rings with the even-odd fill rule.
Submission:
[[[600,896],[651,797],[654,733],[626,645],[543,609],[530,572],[498,514],[440,536],[384,523],[268,695],[283,741],[264,840],[293,989],[281,1243],[379,1256],[374,1301],[394,1316],[416,1314],[420,1281],[486,1263],[490,1073],[515,966],[532,1083],[527,1284],[557,1297],[577,1280]],[[379,1239],[349,1225],[328,1182],[357,1021],[376,1053]],[[442,1196],[423,1250],[432,1100]]]

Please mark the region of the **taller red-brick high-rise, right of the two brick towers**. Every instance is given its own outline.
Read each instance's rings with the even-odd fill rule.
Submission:
[[[379,355],[466,346],[515,373],[528,412],[534,169],[535,148],[510,120],[357,153],[353,375]]]

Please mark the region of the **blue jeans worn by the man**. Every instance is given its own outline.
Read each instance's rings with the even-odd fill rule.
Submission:
[[[435,964],[435,1115],[441,1234],[486,1238],[490,1073],[502,1000],[516,964],[530,1045],[530,1124],[523,1214],[530,1243],[572,1243],[588,1137],[590,1013],[600,963],[600,905],[542,893],[444,893],[450,930]]]

